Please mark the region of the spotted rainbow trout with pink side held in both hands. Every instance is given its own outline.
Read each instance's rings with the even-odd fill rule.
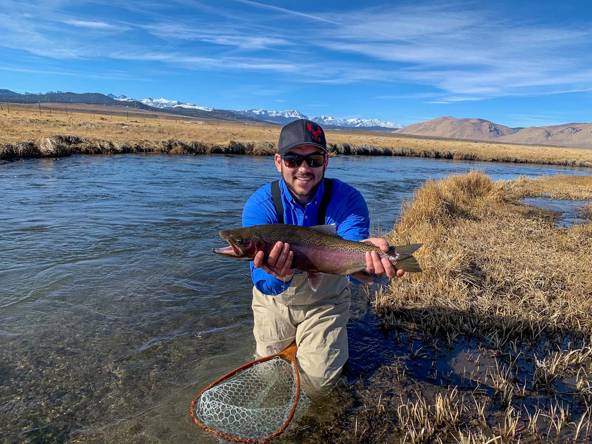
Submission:
[[[352,276],[366,284],[373,282],[374,275],[366,269],[365,255],[368,251],[375,251],[381,258],[387,258],[395,268],[407,272],[422,271],[413,253],[423,244],[390,247],[385,253],[369,242],[343,239],[337,234],[335,225],[301,227],[265,224],[220,231],[220,236],[230,246],[213,248],[212,251],[218,255],[243,260],[252,260],[257,252],[262,251],[265,253],[263,262],[266,262],[269,252],[278,241],[288,243],[290,250],[294,252],[292,268],[308,272],[308,284],[313,291],[317,291],[324,274]]]

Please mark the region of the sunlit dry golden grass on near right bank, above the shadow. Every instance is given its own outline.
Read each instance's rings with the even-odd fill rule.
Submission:
[[[585,185],[573,183],[588,180],[534,184],[581,198]],[[514,192],[526,192],[528,181],[516,182]],[[424,272],[378,294],[377,310],[387,318],[403,311],[434,332],[485,335],[498,345],[545,332],[592,334],[592,224],[556,227],[543,212],[517,204],[508,188],[471,172],[419,189],[387,239],[423,242],[416,257]]]

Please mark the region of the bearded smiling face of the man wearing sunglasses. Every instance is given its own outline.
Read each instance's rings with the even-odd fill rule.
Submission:
[[[289,153],[302,156],[312,153],[324,154],[323,150],[314,145],[300,145],[289,150]],[[323,166],[311,168],[307,162],[303,162],[300,166],[289,168],[285,165],[284,160],[281,159],[279,154],[275,155],[275,166],[278,172],[282,174],[288,189],[298,200],[303,201],[308,201],[307,198],[312,198],[318,184],[323,180],[327,165],[329,165],[329,156],[326,155]]]

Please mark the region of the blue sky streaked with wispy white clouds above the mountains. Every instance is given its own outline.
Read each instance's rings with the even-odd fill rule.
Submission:
[[[592,121],[592,2],[0,0],[0,88],[412,124]]]

